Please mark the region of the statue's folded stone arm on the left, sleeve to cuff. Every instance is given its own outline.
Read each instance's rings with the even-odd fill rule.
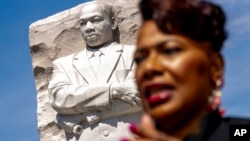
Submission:
[[[60,114],[78,114],[110,109],[110,84],[79,84],[60,63],[53,62],[49,83],[52,107]]]

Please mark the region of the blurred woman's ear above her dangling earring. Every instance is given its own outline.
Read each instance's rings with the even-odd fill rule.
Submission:
[[[224,74],[224,60],[220,53],[212,53],[212,66],[211,66],[211,77],[213,87],[216,88],[216,82],[218,80],[223,81]]]

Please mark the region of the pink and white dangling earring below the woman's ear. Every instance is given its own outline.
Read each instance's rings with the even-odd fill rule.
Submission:
[[[216,84],[216,88],[214,90],[212,90],[212,94],[208,97],[209,105],[208,105],[207,110],[209,112],[212,112],[212,111],[218,109],[220,104],[221,104],[222,93],[221,93],[220,89],[223,86],[223,81],[218,79],[215,84]]]

